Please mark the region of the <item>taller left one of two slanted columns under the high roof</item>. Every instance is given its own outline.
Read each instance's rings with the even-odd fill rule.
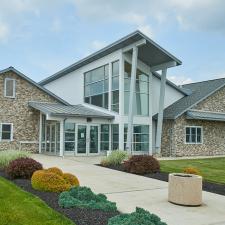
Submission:
[[[129,111],[128,111],[128,130],[127,130],[127,144],[126,144],[126,150],[128,151],[128,153],[132,152],[133,116],[134,116],[133,103],[134,103],[134,92],[135,92],[135,84],[136,84],[137,57],[138,57],[138,48],[137,46],[134,46],[133,53],[132,53],[130,98],[129,98]]]

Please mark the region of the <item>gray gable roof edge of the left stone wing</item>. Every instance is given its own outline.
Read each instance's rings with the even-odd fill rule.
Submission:
[[[34,80],[30,79],[29,77],[27,77],[26,75],[24,75],[23,73],[21,73],[20,71],[18,71],[17,69],[15,69],[14,67],[10,66],[4,70],[0,70],[0,75],[6,72],[14,72],[16,73],[18,76],[20,76],[21,78],[23,78],[24,80],[26,80],[27,82],[31,83],[32,85],[34,85],[35,87],[37,87],[38,89],[44,91],[45,93],[47,93],[48,95],[50,95],[51,97],[55,98],[56,100],[58,100],[59,102],[61,102],[62,104],[65,105],[69,105],[68,102],[64,101],[63,99],[61,99],[60,97],[58,97],[57,95],[53,94],[51,91],[47,90],[46,88],[44,88],[43,86],[39,85],[38,83],[36,83]]]

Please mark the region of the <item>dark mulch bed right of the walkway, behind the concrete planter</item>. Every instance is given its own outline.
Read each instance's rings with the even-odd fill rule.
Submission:
[[[101,165],[98,165],[98,166],[101,166]],[[127,173],[126,171],[124,171],[123,165],[110,166],[107,168],[113,169],[113,170],[119,170],[119,171]],[[169,175],[168,173],[158,172],[158,173],[152,173],[152,174],[145,174],[143,176],[168,182],[168,175]],[[224,184],[217,184],[217,183],[212,183],[209,181],[203,181],[202,189],[204,191],[212,192],[215,194],[225,195],[225,185]]]

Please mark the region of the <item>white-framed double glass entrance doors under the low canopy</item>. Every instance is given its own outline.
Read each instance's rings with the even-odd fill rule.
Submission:
[[[77,155],[99,153],[99,126],[77,125]]]

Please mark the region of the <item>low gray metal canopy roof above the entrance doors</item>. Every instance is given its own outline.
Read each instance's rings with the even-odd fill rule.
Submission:
[[[58,103],[45,103],[30,101],[29,106],[37,109],[44,114],[50,116],[60,116],[60,117],[92,117],[92,118],[104,118],[113,119],[114,116],[103,113],[101,111],[88,108],[84,105],[62,105]]]

